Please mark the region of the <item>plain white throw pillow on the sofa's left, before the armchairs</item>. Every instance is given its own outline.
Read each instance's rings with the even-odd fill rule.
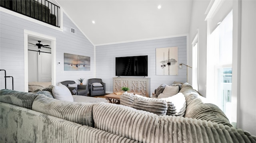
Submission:
[[[61,83],[52,88],[52,94],[55,99],[74,102],[74,98],[70,90]]]

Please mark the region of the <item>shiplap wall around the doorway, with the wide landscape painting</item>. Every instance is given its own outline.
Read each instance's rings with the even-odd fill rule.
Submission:
[[[94,77],[94,46],[79,31],[73,22],[63,14],[63,32],[46,27],[17,16],[0,12],[0,69],[6,70],[7,76],[14,77],[14,90],[24,91],[24,29],[56,37],[56,83],[84,77]],[[70,28],[77,30],[71,33]],[[91,57],[90,71],[64,71],[64,53]],[[0,72],[0,88],[4,89],[4,71]],[[12,79],[7,78],[7,88],[12,88]]]

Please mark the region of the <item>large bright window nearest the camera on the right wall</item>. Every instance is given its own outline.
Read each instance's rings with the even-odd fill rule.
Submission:
[[[207,55],[207,66],[212,70],[207,71],[207,80],[208,83],[212,82],[212,89],[208,86],[212,94],[207,98],[226,114],[230,122],[236,122],[236,119],[232,119],[232,114],[236,112],[236,109],[232,109],[231,104],[232,34],[233,15],[231,11],[209,35],[208,49],[211,52]]]

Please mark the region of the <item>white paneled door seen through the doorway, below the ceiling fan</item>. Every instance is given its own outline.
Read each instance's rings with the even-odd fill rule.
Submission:
[[[52,54],[40,53],[40,55],[38,55],[38,82],[51,82],[51,81],[52,81]]]

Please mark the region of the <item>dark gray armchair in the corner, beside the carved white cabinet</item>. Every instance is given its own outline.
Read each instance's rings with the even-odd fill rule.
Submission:
[[[100,84],[98,84],[100,83]],[[88,87],[90,96],[104,95],[106,93],[106,84],[100,78],[88,79]]]

